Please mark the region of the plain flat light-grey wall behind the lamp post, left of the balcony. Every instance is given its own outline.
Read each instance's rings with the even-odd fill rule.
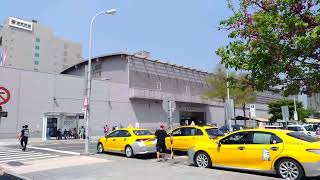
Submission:
[[[15,137],[25,124],[31,136],[39,137],[44,113],[81,112],[84,83],[83,77],[0,67],[0,86],[11,92],[11,100],[3,105],[9,114],[1,119],[0,137]],[[91,104],[92,135],[102,135],[105,124],[127,126],[133,119],[127,84],[93,80]]]

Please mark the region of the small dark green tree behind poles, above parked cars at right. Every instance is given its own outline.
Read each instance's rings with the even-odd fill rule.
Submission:
[[[268,104],[269,113],[272,114],[272,117],[269,119],[270,122],[276,122],[278,119],[282,119],[281,106],[289,107],[289,118],[293,119],[294,116],[294,102],[293,100],[278,100],[270,102]],[[303,108],[302,102],[296,102],[298,119],[304,121],[304,118],[307,118],[311,115],[311,112]]]

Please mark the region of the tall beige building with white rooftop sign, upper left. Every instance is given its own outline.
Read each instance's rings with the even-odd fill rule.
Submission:
[[[0,26],[0,54],[5,56],[0,58],[2,66],[49,73],[60,73],[82,61],[80,43],[56,37],[35,20],[15,17]]]

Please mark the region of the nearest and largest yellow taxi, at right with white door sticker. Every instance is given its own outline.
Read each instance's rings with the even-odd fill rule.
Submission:
[[[203,168],[269,172],[290,180],[320,175],[320,139],[287,130],[240,130],[213,143],[198,143],[188,156]]]

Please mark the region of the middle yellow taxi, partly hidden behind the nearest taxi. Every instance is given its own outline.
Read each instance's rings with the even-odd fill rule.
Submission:
[[[188,151],[198,142],[211,142],[224,134],[213,126],[181,126],[172,131],[172,140],[170,133],[166,137],[166,148],[173,150]]]

